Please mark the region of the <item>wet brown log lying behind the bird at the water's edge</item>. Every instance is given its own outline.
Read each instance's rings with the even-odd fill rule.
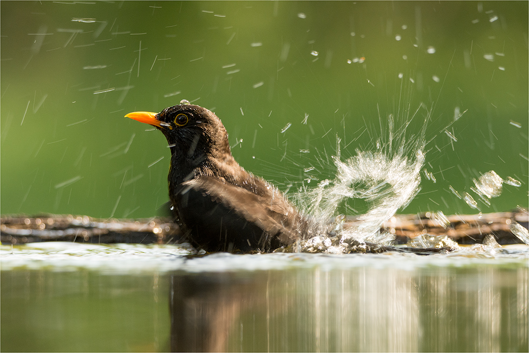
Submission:
[[[527,230],[529,214],[524,209],[481,215],[401,214],[384,223],[381,230],[395,234],[397,244],[427,234],[448,236],[460,244],[482,243],[489,234],[500,245],[523,243],[513,233],[513,225]],[[361,218],[348,218],[352,227]],[[178,225],[170,218],[96,219],[89,216],[41,214],[0,217],[0,241],[23,244],[39,241],[89,243],[171,243],[180,240]]]

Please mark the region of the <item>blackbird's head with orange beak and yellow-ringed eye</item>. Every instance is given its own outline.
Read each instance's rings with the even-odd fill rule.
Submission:
[[[231,157],[224,125],[206,108],[183,100],[160,113],[133,112],[125,116],[160,130],[167,138],[174,158],[197,161],[207,157]]]

